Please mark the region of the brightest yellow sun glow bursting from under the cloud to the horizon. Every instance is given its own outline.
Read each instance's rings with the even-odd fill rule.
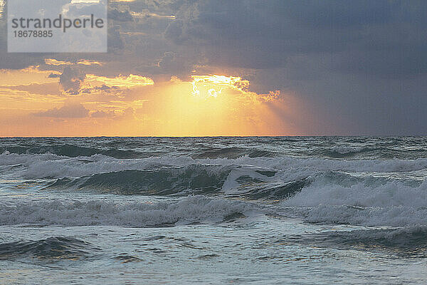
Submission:
[[[289,131],[270,110],[269,104],[283,105],[280,92],[253,93],[248,90],[249,84],[240,77],[223,75],[192,76],[192,81],[172,78],[162,87],[162,102],[147,105],[158,114],[157,132],[162,135],[266,135]]]

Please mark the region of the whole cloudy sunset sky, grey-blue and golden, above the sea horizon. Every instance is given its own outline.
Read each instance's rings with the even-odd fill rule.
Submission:
[[[427,135],[427,1],[110,0],[107,53],[8,53],[5,12],[3,137]]]

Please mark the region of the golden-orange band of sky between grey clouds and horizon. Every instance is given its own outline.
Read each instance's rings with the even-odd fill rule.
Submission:
[[[68,63],[46,58],[48,66],[75,66],[80,62],[85,61]],[[58,71],[30,67],[0,73],[1,136],[214,136],[295,132],[292,125],[286,125],[275,113],[275,110],[295,112],[285,103],[285,100],[292,101],[291,96],[279,91],[253,93],[248,90],[250,82],[238,76],[197,75],[191,76],[190,81],[172,77],[169,81],[154,82],[152,78],[135,74],[85,74],[81,82],[81,78],[70,78],[73,84],[80,84],[78,93],[64,95]]]

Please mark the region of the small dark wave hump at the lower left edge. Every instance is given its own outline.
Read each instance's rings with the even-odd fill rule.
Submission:
[[[49,237],[31,242],[0,244],[0,259],[37,257],[39,259],[80,259],[97,250],[90,243],[73,237]]]

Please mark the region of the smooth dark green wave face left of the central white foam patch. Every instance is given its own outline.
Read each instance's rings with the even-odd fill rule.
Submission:
[[[212,165],[122,170],[76,179],[61,178],[46,189],[90,190],[120,195],[207,194],[220,191],[229,172]]]

